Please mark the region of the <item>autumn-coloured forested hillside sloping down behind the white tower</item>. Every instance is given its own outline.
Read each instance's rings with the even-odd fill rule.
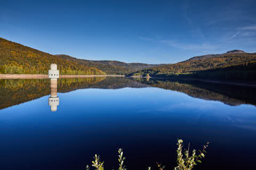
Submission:
[[[51,63],[60,74],[106,74],[105,72],[55,55],[0,38],[0,73],[48,74]]]

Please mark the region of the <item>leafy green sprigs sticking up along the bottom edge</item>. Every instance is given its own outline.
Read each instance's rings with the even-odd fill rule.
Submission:
[[[184,150],[184,153],[182,153],[183,148],[183,140],[178,139],[177,145],[177,167],[174,167],[174,170],[191,170],[194,168],[196,163],[202,163],[202,158],[205,157],[206,148],[208,147],[210,142],[206,142],[206,145],[203,145],[202,151],[199,150],[199,154],[196,155],[196,150],[194,149],[192,151],[192,155],[189,156],[189,143],[188,143],[188,149]],[[125,157],[123,157],[123,149],[118,149],[118,162],[119,162],[119,168],[118,170],[127,170],[124,166],[124,160]],[[104,170],[103,163],[100,162],[100,156],[95,155],[94,160],[92,161],[92,166],[95,168],[95,170]],[[159,170],[163,170],[165,166],[162,166],[161,164],[157,163],[157,166]],[[90,167],[87,165],[86,170],[90,170]],[[148,167],[148,170],[151,170],[151,167]]]

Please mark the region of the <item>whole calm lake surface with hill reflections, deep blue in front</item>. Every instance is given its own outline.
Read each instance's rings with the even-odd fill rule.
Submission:
[[[0,169],[173,169],[177,139],[201,149],[196,169],[256,169],[256,89],[164,79],[0,80]],[[54,98],[57,99],[57,98]],[[91,168],[93,169],[93,168]]]

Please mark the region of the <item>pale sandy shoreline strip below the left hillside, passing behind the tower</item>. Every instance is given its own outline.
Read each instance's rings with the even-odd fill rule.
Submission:
[[[125,77],[125,75],[60,75],[60,78]],[[0,79],[48,79],[48,74],[0,74]]]

